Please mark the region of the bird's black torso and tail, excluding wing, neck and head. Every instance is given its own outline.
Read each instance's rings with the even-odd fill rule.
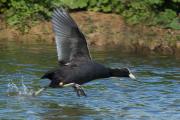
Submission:
[[[78,65],[62,66],[46,73],[43,78],[51,80],[51,87],[59,87],[59,83],[76,83],[82,85],[94,79],[110,77],[108,68],[93,61],[87,61]]]

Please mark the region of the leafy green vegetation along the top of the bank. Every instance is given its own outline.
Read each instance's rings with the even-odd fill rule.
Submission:
[[[10,25],[26,30],[39,19],[49,19],[53,8],[60,6],[117,13],[129,24],[180,29],[180,0],[0,0],[0,14]]]

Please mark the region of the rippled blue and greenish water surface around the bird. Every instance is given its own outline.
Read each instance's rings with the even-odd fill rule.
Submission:
[[[39,79],[57,65],[50,43],[0,41],[0,119],[21,120],[179,120],[180,59],[174,56],[127,54],[119,49],[91,50],[110,67],[129,67],[138,78],[107,78],[84,85],[88,97],[72,88],[47,89]]]

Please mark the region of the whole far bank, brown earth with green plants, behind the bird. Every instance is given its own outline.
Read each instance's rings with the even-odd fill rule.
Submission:
[[[0,38],[52,42],[51,14],[62,6],[91,46],[180,53],[179,0],[1,0]]]

